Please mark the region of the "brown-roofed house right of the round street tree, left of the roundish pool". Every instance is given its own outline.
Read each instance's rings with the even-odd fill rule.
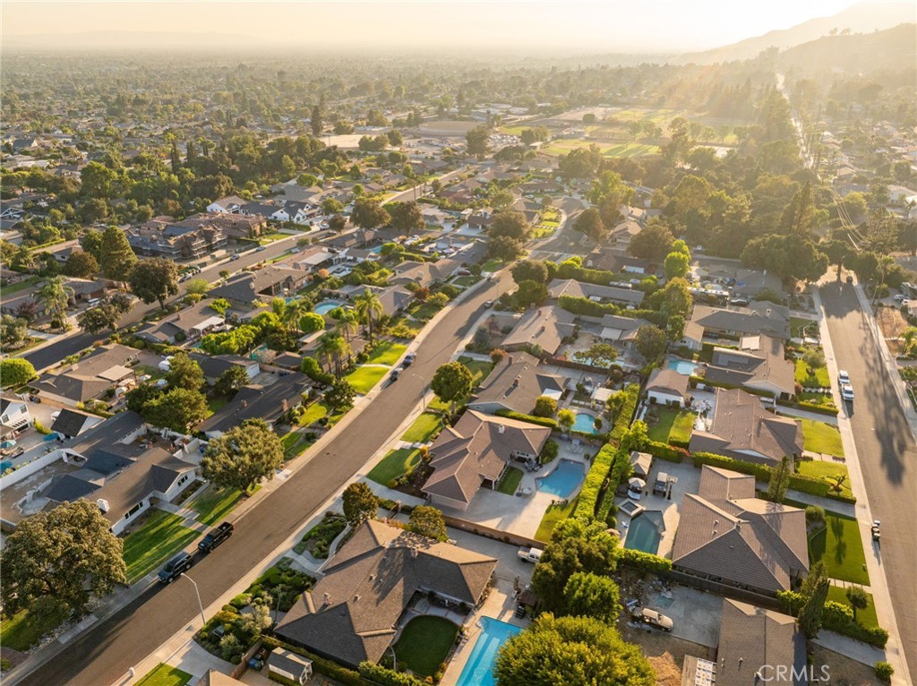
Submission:
[[[527,352],[514,352],[497,363],[468,406],[472,410],[494,413],[512,410],[531,415],[541,396],[560,400],[567,389],[565,376],[538,369],[538,359]]]

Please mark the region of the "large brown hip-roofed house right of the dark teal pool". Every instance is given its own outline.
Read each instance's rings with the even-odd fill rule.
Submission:
[[[809,570],[805,511],[755,497],[755,477],[704,465],[685,493],[672,565],[689,574],[773,595]]]

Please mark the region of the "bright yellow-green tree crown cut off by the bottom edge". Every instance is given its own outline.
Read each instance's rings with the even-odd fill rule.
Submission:
[[[493,671],[500,686],[656,684],[643,653],[613,626],[592,617],[550,613],[506,642]]]

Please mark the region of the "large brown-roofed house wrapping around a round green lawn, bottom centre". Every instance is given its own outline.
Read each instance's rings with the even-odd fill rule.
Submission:
[[[474,606],[496,566],[496,559],[370,519],[283,617],[277,634],[350,667],[378,662],[415,593]]]

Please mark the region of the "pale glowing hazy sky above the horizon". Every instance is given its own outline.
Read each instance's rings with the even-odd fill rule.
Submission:
[[[275,45],[325,48],[443,45],[503,47],[507,37],[567,50],[712,48],[790,28],[853,0],[488,0],[487,2],[42,2],[2,0],[4,36],[83,31],[247,35]]]

